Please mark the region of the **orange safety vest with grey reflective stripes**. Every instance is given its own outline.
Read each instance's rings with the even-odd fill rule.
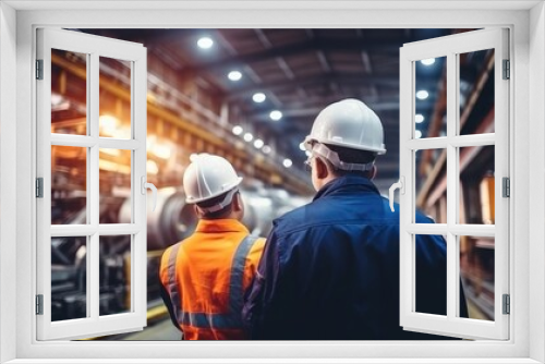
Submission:
[[[185,340],[246,339],[244,291],[265,239],[234,219],[199,220],[195,233],[162,254],[160,279]]]

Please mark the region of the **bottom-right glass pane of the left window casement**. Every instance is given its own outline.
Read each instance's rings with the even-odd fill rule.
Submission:
[[[131,235],[99,236],[100,316],[131,312]]]

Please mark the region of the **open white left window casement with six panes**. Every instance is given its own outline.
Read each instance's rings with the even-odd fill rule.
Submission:
[[[43,314],[37,316],[37,339],[77,339],[142,330],[146,325],[146,90],[147,52],[142,45],[56,28],[37,29],[37,59],[43,60],[43,80],[37,92],[37,177],[43,178],[43,197],[36,201],[37,294],[43,295]],[[86,54],[86,135],[51,133],[51,50]],[[131,66],[131,137],[99,136],[99,58],[128,61]],[[51,225],[51,146],[85,147],[87,223]],[[99,223],[99,150],[131,153],[131,222]],[[144,180],[142,180],[144,179]],[[145,189],[144,189],[145,192]],[[51,321],[51,238],[87,236],[85,318]],[[131,307],[126,313],[99,314],[99,236],[131,235]]]

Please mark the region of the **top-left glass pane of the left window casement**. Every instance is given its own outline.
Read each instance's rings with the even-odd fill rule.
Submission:
[[[87,54],[51,49],[51,133],[87,134]]]

